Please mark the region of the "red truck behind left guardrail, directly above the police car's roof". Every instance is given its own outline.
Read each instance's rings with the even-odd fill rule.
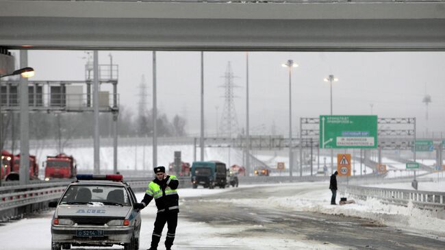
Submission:
[[[60,153],[55,156],[47,156],[44,168],[44,179],[73,178],[76,176],[77,166],[73,156]]]

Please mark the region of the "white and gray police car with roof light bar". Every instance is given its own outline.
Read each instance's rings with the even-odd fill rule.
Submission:
[[[71,246],[139,249],[142,203],[122,175],[77,175],[55,208],[51,221],[51,250]]]

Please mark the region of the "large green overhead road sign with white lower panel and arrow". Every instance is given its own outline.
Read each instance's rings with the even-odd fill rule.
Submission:
[[[320,149],[377,148],[377,116],[320,116]]]

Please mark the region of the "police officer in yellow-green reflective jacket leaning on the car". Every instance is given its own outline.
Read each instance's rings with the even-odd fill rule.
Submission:
[[[177,188],[179,181],[175,175],[166,175],[164,166],[157,166],[154,171],[156,177],[149,183],[144,199],[141,201],[144,206],[147,206],[154,198],[157,207],[155,229],[153,229],[149,250],[157,250],[157,244],[161,240],[162,229],[164,229],[165,223],[167,223],[168,228],[165,246],[166,250],[170,250],[173,240],[175,240],[178,221],[179,196]]]

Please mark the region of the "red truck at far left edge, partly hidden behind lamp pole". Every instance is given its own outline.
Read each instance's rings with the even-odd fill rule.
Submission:
[[[18,181],[18,179],[20,179],[20,154],[12,155],[11,153],[9,153],[7,155],[8,156],[3,159],[6,160],[4,167],[9,168],[8,173],[6,173],[5,175],[5,180]],[[29,155],[29,179],[38,179],[38,164],[35,155]]]

